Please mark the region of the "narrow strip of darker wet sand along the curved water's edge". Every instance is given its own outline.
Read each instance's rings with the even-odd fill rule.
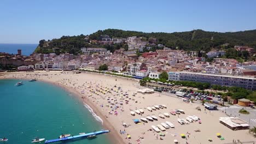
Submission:
[[[0,77],[0,80],[3,79],[2,77]],[[5,80],[8,80],[8,79],[11,79],[11,78],[4,78]],[[20,80],[20,78],[13,78],[13,79],[16,79],[16,80]],[[21,80],[30,80],[30,79],[21,79]],[[48,80],[41,80],[39,79],[38,81],[42,81],[42,82],[45,82],[45,83],[49,83],[51,85],[54,85],[54,86],[57,86],[57,87],[60,87],[62,89],[64,89],[66,92],[68,93],[71,93],[72,95],[70,95],[71,97],[74,97],[74,98],[77,98],[80,102],[82,102],[83,104],[83,107],[84,104],[88,105],[91,107],[91,109],[94,111],[94,113],[100,117],[103,121],[103,124],[102,124],[102,127],[103,128],[106,128],[107,130],[110,131],[110,133],[107,134],[107,137],[108,139],[110,140],[110,142],[112,143],[125,143],[123,141],[123,139],[120,137],[120,135],[117,133],[117,130],[115,130],[115,128],[113,127],[113,125],[108,121],[108,119],[100,112],[100,110],[97,109],[97,107],[87,98],[87,97],[84,97],[82,94],[80,94],[76,89],[72,89],[70,87],[67,87],[65,85],[62,85],[61,83],[58,83],[58,82],[52,82],[52,81],[48,81]],[[70,97],[69,96],[69,97]],[[84,99],[83,99],[83,98]],[[86,110],[88,110],[87,107],[85,107]],[[89,111],[89,110],[88,110]],[[91,112],[90,112],[91,113]],[[92,113],[91,113],[92,115]],[[96,119],[97,121],[97,119]]]

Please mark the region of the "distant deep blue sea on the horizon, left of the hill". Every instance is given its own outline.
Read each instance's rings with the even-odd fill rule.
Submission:
[[[29,56],[37,48],[38,44],[0,44],[0,52],[17,54],[18,49],[22,55]]]

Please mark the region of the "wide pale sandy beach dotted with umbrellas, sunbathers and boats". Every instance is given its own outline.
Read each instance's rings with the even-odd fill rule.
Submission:
[[[67,89],[91,107],[94,113],[100,117],[97,118],[98,121],[101,122],[100,119],[102,119],[103,127],[110,130],[107,135],[113,143],[174,143],[174,140],[179,143],[232,143],[233,140],[253,143],[255,141],[248,130],[233,131],[219,123],[219,117],[226,117],[224,112],[208,111],[201,104],[184,103],[180,98],[164,94],[137,93],[140,86],[135,80],[92,73],[73,74],[72,71],[4,74],[0,75],[0,79],[37,79]],[[167,108],[152,112],[147,110],[148,106],[154,105],[166,105]],[[196,110],[196,106],[199,106],[201,111]],[[135,113],[135,116],[130,114],[130,111],[134,112],[139,109],[142,109],[144,113],[140,115]],[[174,109],[182,109],[185,114],[171,115],[170,111]],[[165,112],[170,117],[160,118],[159,114]],[[158,117],[158,120],[139,124],[133,122],[133,119],[152,115]],[[201,124],[197,121],[181,125],[177,121],[178,118],[186,119],[186,117],[193,115],[201,119]],[[166,121],[173,123],[174,128],[161,131],[160,133],[165,134],[165,136],[160,140],[160,133],[152,130],[152,125],[157,126]],[[124,127],[123,123],[126,123],[127,127]],[[196,132],[196,129],[200,129],[200,131]],[[220,133],[225,140],[220,140],[216,135],[217,133]],[[186,138],[182,138],[181,134],[184,134]],[[127,139],[127,135],[130,135],[131,139]],[[208,139],[212,139],[212,142]]]

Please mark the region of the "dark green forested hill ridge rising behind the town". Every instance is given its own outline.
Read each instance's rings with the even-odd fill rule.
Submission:
[[[210,51],[211,48],[227,49],[235,45],[250,46],[256,49],[256,29],[243,32],[206,32],[200,29],[189,32],[174,32],[174,33],[143,33],[136,31],[123,31],[119,29],[106,29],[97,31],[89,35],[90,40],[100,40],[101,35],[109,35],[111,38],[127,38],[132,36],[144,37],[144,40],[149,38],[156,38],[156,44],[163,44],[172,49],[180,49],[187,51],[204,50]],[[49,53],[53,52],[54,47],[59,47],[60,52],[69,52],[77,54],[80,47],[106,47],[113,51],[119,49],[124,45],[100,45],[97,43],[89,43],[85,41],[85,35],[78,36],[63,36],[60,39],[53,39],[49,41],[40,40],[39,46],[35,52]],[[45,45],[47,43],[47,45]],[[228,46],[223,44],[228,43]],[[157,48],[156,48],[157,49]]]

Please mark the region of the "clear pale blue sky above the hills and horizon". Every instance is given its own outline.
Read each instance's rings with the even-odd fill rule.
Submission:
[[[0,43],[38,43],[117,28],[142,32],[256,29],[254,0],[1,0]]]

